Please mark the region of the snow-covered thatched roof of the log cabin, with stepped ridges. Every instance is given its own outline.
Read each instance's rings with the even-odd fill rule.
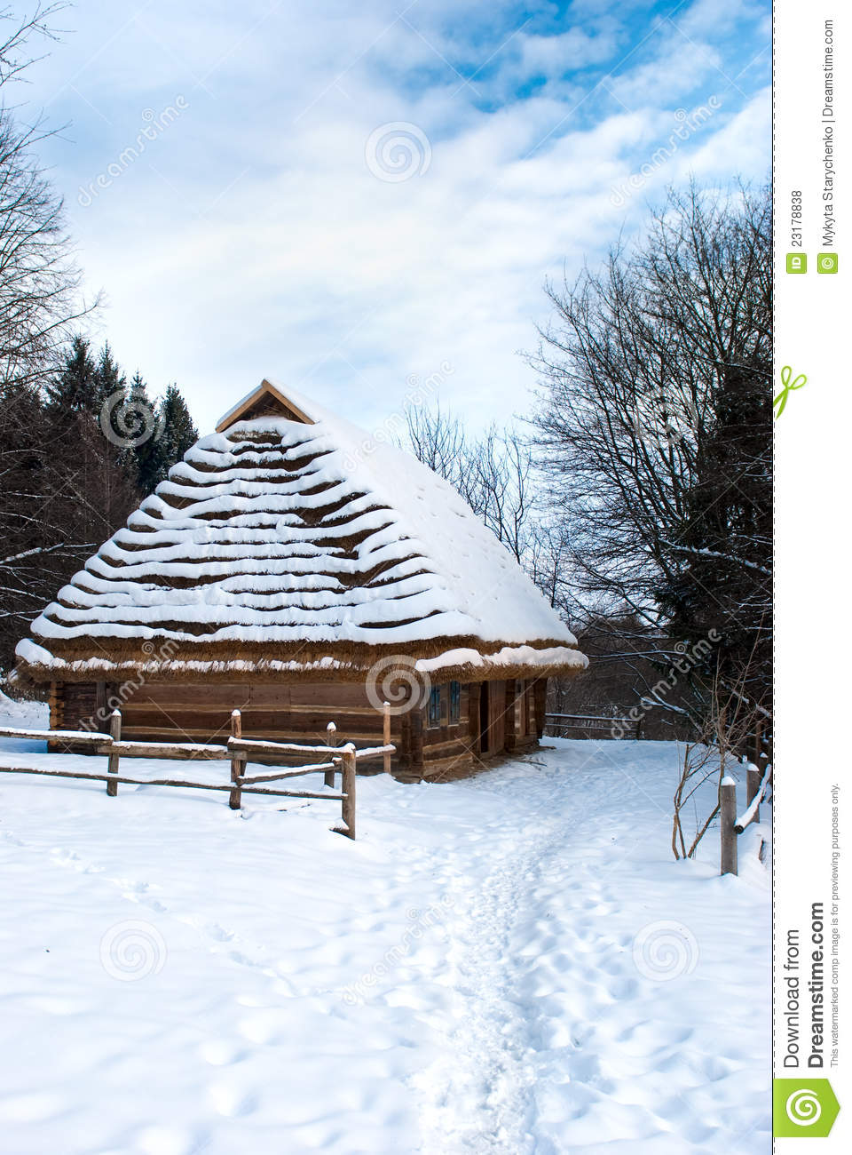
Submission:
[[[456,491],[268,381],[201,438],[18,644],[38,678],[578,670],[571,633]]]

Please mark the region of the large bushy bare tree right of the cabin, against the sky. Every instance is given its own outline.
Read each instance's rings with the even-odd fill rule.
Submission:
[[[531,358],[539,463],[584,598],[672,643],[716,629],[722,676],[747,666],[764,705],[770,225],[768,193],[672,192],[635,252],[547,286],[555,321]]]

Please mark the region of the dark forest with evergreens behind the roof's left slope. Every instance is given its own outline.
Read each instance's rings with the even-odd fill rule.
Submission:
[[[177,385],[154,397],[109,343],[75,336],[0,385],[0,668],[27,625],[197,439]]]

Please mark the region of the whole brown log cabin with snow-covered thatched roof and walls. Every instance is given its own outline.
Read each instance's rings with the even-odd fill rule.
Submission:
[[[380,744],[391,773],[533,746],[586,664],[515,559],[413,457],[269,381],[201,438],[18,643],[51,728]]]

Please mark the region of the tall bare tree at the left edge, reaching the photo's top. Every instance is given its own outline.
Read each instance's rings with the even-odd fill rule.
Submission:
[[[48,419],[44,386],[88,312],[62,200],[39,165],[50,135],[10,91],[65,3],[0,9],[0,668],[27,624],[127,512],[129,487],[89,418]],[[119,492],[119,490],[121,492]]]

